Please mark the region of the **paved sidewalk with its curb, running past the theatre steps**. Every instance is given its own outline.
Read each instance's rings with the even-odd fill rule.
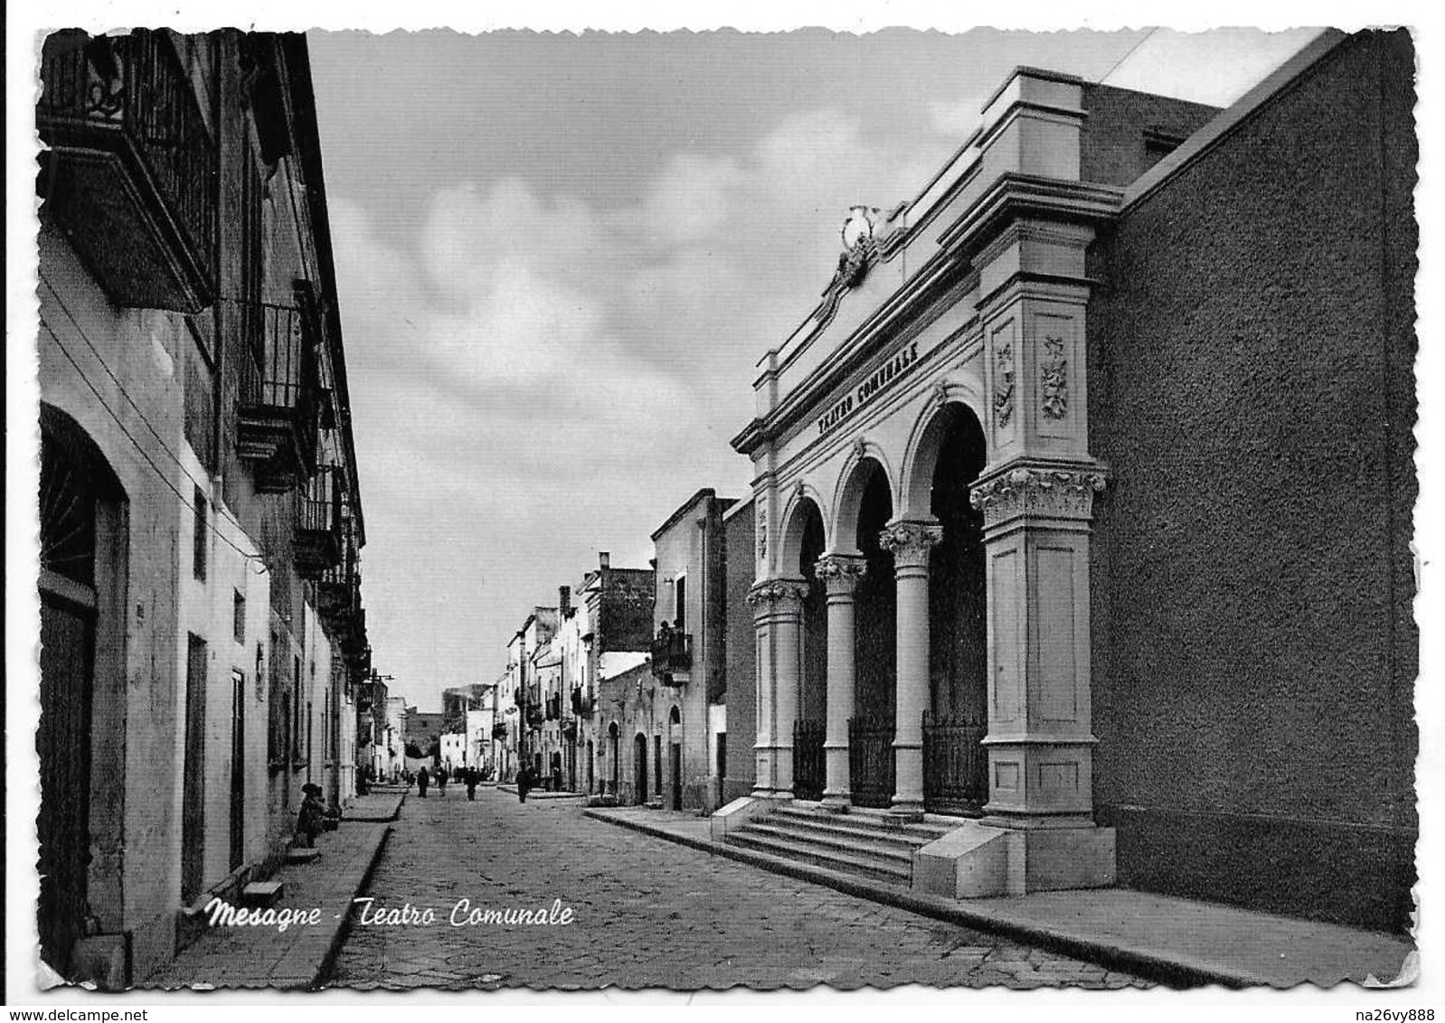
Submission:
[[[1331,987],[1340,981],[1393,987],[1402,974],[1399,983],[1413,980],[1419,968],[1409,942],[1371,931],[1127,889],[942,899],[714,842],[705,816],[637,806],[582,812],[863,899],[1003,933],[1178,987],[1293,987],[1305,983]]]

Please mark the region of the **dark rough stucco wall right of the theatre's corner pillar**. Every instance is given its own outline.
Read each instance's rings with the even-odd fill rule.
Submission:
[[[1095,802],[1124,884],[1399,928],[1412,51],[1337,48],[1091,251]]]

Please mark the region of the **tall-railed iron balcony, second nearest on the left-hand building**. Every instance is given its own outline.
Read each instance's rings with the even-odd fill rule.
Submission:
[[[241,358],[236,454],[256,465],[256,488],[279,494],[316,465],[315,306],[238,302],[249,358]]]

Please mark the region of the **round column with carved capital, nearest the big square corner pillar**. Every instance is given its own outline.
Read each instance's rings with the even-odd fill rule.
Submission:
[[[893,725],[893,800],[897,816],[923,815],[923,708],[928,707],[928,559],[944,539],[936,522],[892,522],[879,545],[893,553],[897,587],[897,689]]]

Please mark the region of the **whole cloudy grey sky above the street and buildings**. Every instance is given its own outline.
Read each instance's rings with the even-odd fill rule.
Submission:
[[[1314,35],[311,35],[374,663],[422,709],[699,487],[850,205],[1027,64],[1227,104]]]

